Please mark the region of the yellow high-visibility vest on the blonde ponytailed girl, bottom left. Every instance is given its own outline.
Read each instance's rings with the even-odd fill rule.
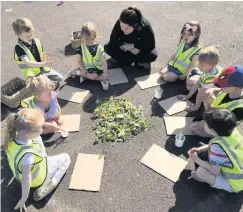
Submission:
[[[47,159],[46,156],[42,154],[41,146],[39,143],[20,145],[15,141],[11,141],[8,144],[6,151],[9,166],[13,172],[14,177],[22,182],[22,164],[21,159],[27,153],[33,154],[34,164],[30,171],[31,183],[30,187],[38,187],[42,185],[47,176]]]

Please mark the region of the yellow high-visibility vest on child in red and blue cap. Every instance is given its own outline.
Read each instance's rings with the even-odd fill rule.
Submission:
[[[243,108],[243,99],[236,99],[236,100],[232,100],[230,102],[221,104],[222,100],[225,98],[226,95],[227,95],[227,93],[220,92],[217,95],[217,97],[214,99],[213,103],[211,104],[211,107],[225,108],[230,111],[232,111],[236,108]]]

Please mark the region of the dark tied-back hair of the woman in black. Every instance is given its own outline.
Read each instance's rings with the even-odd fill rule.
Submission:
[[[141,24],[142,18],[143,16],[139,9],[136,7],[128,7],[122,11],[119,20],[135,28]]]

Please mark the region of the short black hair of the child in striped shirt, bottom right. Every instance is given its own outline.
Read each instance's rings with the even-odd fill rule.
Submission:
[[[203,119],[209,129],[213,129],[219,136],[230,136],[237,124],[235,114],[224,108],[211,108],[205,111]]]

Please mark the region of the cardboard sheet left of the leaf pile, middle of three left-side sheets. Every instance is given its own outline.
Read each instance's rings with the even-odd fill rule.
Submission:
[[[61,115],[63,120],[63,129],[68,132],[78,132],[80,127],[80,114]]]

